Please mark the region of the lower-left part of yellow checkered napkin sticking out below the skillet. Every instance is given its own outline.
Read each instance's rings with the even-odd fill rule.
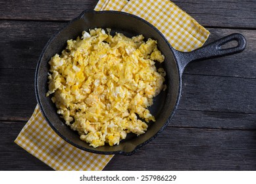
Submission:
[[[38,105],[14,142],[54,170],[103,170],[113,157],[86,152],[66,143],[47,124]]]

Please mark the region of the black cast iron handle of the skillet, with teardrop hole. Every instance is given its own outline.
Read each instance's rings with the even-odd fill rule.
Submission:
[[[222,46],[231,41],[237,41],[238,45],[235,47],[225,48]],[[213,41],[208,45],[205,45],[199,49],[196,49],[190,53],[183,53],[174,50],[174,54],[177,57],[178,64],[180,66],[180,72],[183,73],[188,63],[197,60],[205,60],[209,58],[224,57],[236,53],[241,53],[246,46],[246,39],[242,34],[230,34],[225,37]]]

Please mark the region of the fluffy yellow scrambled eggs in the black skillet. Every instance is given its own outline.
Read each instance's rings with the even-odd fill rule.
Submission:
[[[157,41],[110,31],[82,32],[49,61],[46,95],[53,94],[57,113],[92,147],[145,133],[147,122],[155,122],[147,107],[166,87],[165,70],[154,65],[165,59]]]

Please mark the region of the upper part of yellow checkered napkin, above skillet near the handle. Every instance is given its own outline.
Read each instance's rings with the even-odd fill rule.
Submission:
[[[117,10],[140,16],[165,35],[178,51],[197,49],[209,36],[203,26],[168,0],[109,0],[107,4],[101,0],[95,10]]]

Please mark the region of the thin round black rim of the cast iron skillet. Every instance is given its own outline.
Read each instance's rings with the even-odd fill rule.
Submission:
[[[39,66],[41,65],[41,61],[43,58],[43,55],[45,54],[45,51],[47,50],[47,48],[49,47],[49,45],[51,44],[51,42],[57,37],[57,35],[59,35],[66,27],[70,26],[70,24],[72,24],[73,22],[75,22],[76,20],[79,20],[81,18],[83,18],[87,13],[93,13],[93,14],[106,14],[106,13],[111,13],[111,14],[124,14],[125,16],[132,16],[142,22],[144,22],[145,24],[147,24],[148,26],[150,26],[151,28],[153,28],[159,35],[161,35],[161,37],[163,38],[163,40],[165,41],[165,43],[168,45],[170,51],[172,52],[172,56],[174,57],[174,61],[176,63],[176,67],[178,70],[178,96],[176,99],[176,103],[174,104],[174,108],[172,108],[172,112],[171,114],[168,116],[168,119],[166,120],[165,124],[163,124],[163,126],[161,127],[161,129],[157,130],[157,133],[155,133],[154,135],[152,135],[149,139],[147,139],[146,141],[144,141],[143,143],[140,143],[139,145],[136,145],[136,147],[134,147],[134,149],[132,151],[129,152],[125,152],[125,150],[115,150],[115,151],[101,151],[101,150],[94,150],[94,149],[88,149],[86,147],[82,147],[76,143],[74,143],[73,141],[70,141],[69,139],[67,139],[64,135],[62,135],[62,133],[59,132],[59,130],[53,126],[53,124],[51,123],[51,121],[49,120],[47,114],[45,113],[45,110],[43,108],[43,105],[41,104],[41,99],[39,97],[39,85],[38,85],[38,78],[39,78]],[[76,18],[70,20],[67,24],[65,24],[63,26],[63,28],[59,29],[57,32],[55,32],[55,34],[53,34],[53,36],[51,36],[51,38],[47,41],[47,43],[45,44],[45,46],[43,47],[43,50],[41,51],[41,54],[39,56],[39,60],[38,60],[38,64],[36,66],[36,74],[35,74],[35,91],[36,91],[36,99],[38,101],[39,104],[39,108],[41,110],[41,113],[43,114],[43,117],[45,118],[47,124],[49,124],[49,126],[55,131],[55,133],[57,133],[57,135],[59,135],[64,141],[66,141],[67,143],[69,143],[70,145],[73,145],[74,147],[81,149],[81,150],[85,150],[88,152],[92,152],[95,154],[123,154],[123,155],[132,155],[135,152],[138,151],[138,149],[140,149],[141,147],[143,147],[144,145],[146,145],[147,143],[149,143],[150,141],[152,141],[153,139],[155,139],[155,137],[157,137],[162,131],[163,129],[165,129],[165,127],[169,124],[170,120],[172,119],[172,116],[174,115],[176,108],[178,106],[178,103],[180,101],[180,96],[181,96],[181,88],[182,88],[182,75],[180,72],[180,67],[178,64],[178,58],[176,57],[175,53],[174,53],[174,49],[173,47],[170,45],[170,43],[166,40],[165,36],[157,29],[155,28],[155,26],[153,26],[152,24],[150,24],[149,22],[147,22],[146,20],[144,20],[143,18],[140,18],[139,16],[135,16],[134,14],[129,14],[127,12],[120,12],[120,11],[93,11],[93,10],[85,10],[83,11],[79,16],[77,16]]]

